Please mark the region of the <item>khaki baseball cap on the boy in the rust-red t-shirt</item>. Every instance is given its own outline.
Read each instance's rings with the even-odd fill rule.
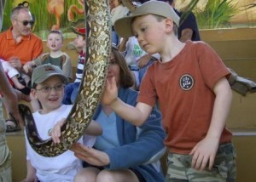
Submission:
[[[155,14],[166,18],[171,18],[177,26],[179,24],[179,16],[175,13],[170,4],[160,1],[148,1],[137,7],[137,9],[135,9],[130,16],[126,16],[115,21],[114,29],[118,33],[119,37],[132,37],[132,20],[137,16],[146,14]]]

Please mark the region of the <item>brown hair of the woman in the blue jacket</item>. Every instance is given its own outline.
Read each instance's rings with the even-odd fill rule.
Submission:
[[[114,45],[112,45],[111,51],[114,59],[116,60],[116,64],[120,67],[120,86],[123,88],[131,88],[131,86],[134,84],[134,79],[131,71],[126,65],[124,56],[119,53],[118,48],[116,48]]]

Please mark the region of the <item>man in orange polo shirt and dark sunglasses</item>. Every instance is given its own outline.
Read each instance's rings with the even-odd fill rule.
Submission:
[[[29,9],[17,6],[12,9],[10,18],[12,26],[0,33],[0,58],[8,61],[22,76],[23,65],[43,53],[43,42],[31,31],[34,20]],[[3,101],[3,105],[5,104]],[[7,118],[6,122],[7,132],[20,129],[12,118]]]

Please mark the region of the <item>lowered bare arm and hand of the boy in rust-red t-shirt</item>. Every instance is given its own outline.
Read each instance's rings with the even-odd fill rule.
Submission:
[[[230,111],[232,92],[227,79],[220,79],[214,86],[213,92],[216,95],[216,99],[214,101],[212,120],[207,136],[195,145],[190,152],[190,155],[193,155],[192,168],[197,170],[207,168],[207,163],[209,163],[208,168],[210,170],[212,169],[218,151],[219,139]]]

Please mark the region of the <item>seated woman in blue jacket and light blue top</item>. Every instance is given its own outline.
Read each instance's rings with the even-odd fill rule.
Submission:
[[[136,105],[137,91],[124,57],[112,47],[108,79],[115,77],[119,98],[129,105]],[[72,151],[84,162],[75,181],[142,182],[165,181],[158,159],[166,151],[159,111],[152,111],[148,121],[140,128],[125,122],[108,105],[99,105],[94,120],[102,125],[103,134],[96,138],[94,148],[73,145]]]

